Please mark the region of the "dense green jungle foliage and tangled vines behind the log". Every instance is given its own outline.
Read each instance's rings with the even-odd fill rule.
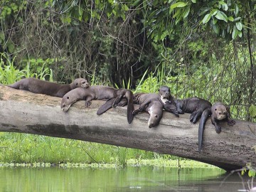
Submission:
[[[168,85],[255,122],[255,14],[253,0],[1,1],[0,80]]]

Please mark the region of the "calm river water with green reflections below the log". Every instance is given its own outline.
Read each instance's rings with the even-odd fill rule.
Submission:
[[[250,178],[221,169],[0,167],[0,191],[242,191]],[[245,188],[243,186],[243,183]],[[251,183],[251,181],[250,181]],[[255,186],[255,183],[253,183]]]

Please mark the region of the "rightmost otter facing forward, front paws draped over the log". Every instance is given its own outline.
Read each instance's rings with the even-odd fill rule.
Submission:
[[[215,131],[217,133],[221,132],[221,127],[218,122],[226,121],[229,126],[233,126],[235,121],[230,119],[230,108],[224,105],[222,102],[215,102],[215,104],[211,107],[211,122],[215,126]]]

